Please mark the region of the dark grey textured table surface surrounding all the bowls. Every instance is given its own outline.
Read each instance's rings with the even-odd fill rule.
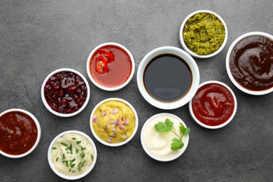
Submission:
[[[212,10],[228,25],[228,42],[215,57],[195,59],[200,82],[220,80],[234,90],[238,109],[220,130],[206,130],[191,118],[188,105],[171,111],[148,104],[137,87],[137,68],[154,48],[181,48],[179,29],[195,10]],[[0,1],[0,112],[11,108],[33,113],[41,123],[41,141],[25,158],[0,156],[0,181],[63,181],[48,165],[52,139],[66,130],[90,135],[97,146],[97,163],[80,181],[272,181],[273,94],[253,96],[235,87],[225,69],[231,43],[249,31],[273,34],[273,1],[139,1],[60,0]],[[105,42],[125,45],[134,56],[136,71],[129,85],[116,92],[95,87],[87,107],[72,118],[59,118],[45,109],[41,84],[55,69],[68,67],[87,78],[91,50]],[[130,102],[139,114],[139,130],[125,146],[111,148],[92,136],[89,118],[94,106],[109,97]],[[141,147],[145,121],[156,113],[174,113],[191,128],[183,155],[158,162]]]

